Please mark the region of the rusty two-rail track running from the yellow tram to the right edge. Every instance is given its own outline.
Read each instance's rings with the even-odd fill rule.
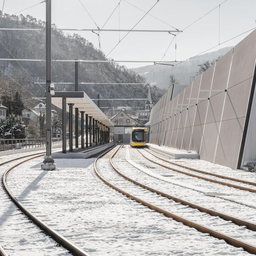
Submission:
[[[138,150],[138,149],[137,149]],[[145,150],[145,149],[144,149]],[[187,166],[183,166],[183,165],[180,165],[180,164],[177,164],[177,163],[174,163],[174,162],[171,162],[171,161],[168,161],[166,159],[162,159],[160,158],[159,156],[156,156],[154,155],[153,153],[149,152],[148,150],[145,150],[147,153],[153,155],[155,158],[158,158],[160,159],[161,161],[164,161],[164,162],[168,162],[169,164],[173,165],[173,166],[179,166],[183,169],[186,169],[186,170],[191,170],[193,172],[198,172],[198,173],[202,173],[202,174],[206,174],[206,175],[210,175],[210,176],[215,176],[215,177],[218,177],[218,178],[222,178],[224,180],[232,180],[232,181],[236,181],[236,182],[240,182],[240,183],[244,183],[244,184],[249,184],[249,185],[252,185],[252,186],[256,186],[256,183],[254,182],[250,182],[250,181],[244,181],[244,180],[239,180],[239,179],[236,179],[236,178],[232,178],[232,177],[226,177],[226,176],[223,176],[223,175],[218,175],[218,174],[213,174],[213,173],[208,173],[208,172],[205,172],[205,171],[200,171],[200,170],[197,170],[197,169],[193,169],[191,167],[187,167]],[[169,170],[172,170],[172,171],[175,171],[175,172],[178,172],[180,174],[185,174],[187,176],[191,176],[191,177],[194,177],[194,178],[198,178],[200,180],[205,180],[205,181],[209,181],[209,182],[213,182],[213,183],[218,183],[218,184],[221,184],[223,186],[228,186],[228,187],[233,187],[233,188],[236,188],[236,189],[239,189],[239,190],[244,190],[244,191],[249,191],[249,192],[252,192],[252,193],[256,193],[256,188],[250,188],[250,187],[245,187],[245,186],[241,186],[241,185],[236,185],[236,184],[232,184],[232,183],[228,183],[228,182],[225,182],[225,181],[221,181],[221,180],[215,180],[213,178],[209,178],[209,177],[204,177],[204,176],[201,176],[201,175],[197,175],[197,174],[193,174],[191,172],[188,172],[188,171],[185,171],[185,170],[180,170],[180,169],[176,169],[174,167],[171,167],[171,166],[168,166],[168,165],[165,165],[165,164],[161,164],[160,162],[158,161],[155,161],[153,159],[150,159],[148,158],[147,156],[145,156],[145,154],[143,154],[141,152],[141,150],[138,150],[138,152],[147,160],[149,160],[150,162],[153,162],[154,164],[157,164],[157,165],[160,165],[166,169],[169,169]]]

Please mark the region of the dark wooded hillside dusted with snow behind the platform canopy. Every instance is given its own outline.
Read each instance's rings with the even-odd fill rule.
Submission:
[[[3,28],[45,28],[45,22],[27,15],[3,14]],[[106,60],[104,53],[79,34],[66,34],[52,25],[52,59]],[[0,58],[42,59],[46,58],[45,30],[0,31]],[[53,62],[52,82],[74,82],[73,62]],[[34,107],[38,101],[33,97],[44,97],[46,69],[45,62],[4,61],[0,62],[0,94],[6,91],[20,92],[26,106]],[[145,78],[118,63],[79,63],[80,82],[145,83]],[[35,84],[41,82],[41,84]],[[74,91],[74,85],[59,84],[56,91]],[[146,98],[148,85],[79,85],[91,98]],[[165,89],[151,86],[154,102],[164,94]],[[101,101],[101,106],[144,106],[144,101]]]

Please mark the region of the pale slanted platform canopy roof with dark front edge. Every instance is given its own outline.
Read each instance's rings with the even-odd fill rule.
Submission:
[[[108,127],[113,127],[114,124],[106,117],[106,115],[97,107],[97,105],[89,98],[89,96],[81,91],[58,91],[55,92],[55,95],[52,95],[52,104],[60,109],[62,109],[62,98],[66,98],[66,111],[69,112],[68,103],[74,103],[73,114],[75,114],[75,108],[80,111],[85,111],[85,114],[88,114],[92,118],[95,118],[102,124],[105,124]]]

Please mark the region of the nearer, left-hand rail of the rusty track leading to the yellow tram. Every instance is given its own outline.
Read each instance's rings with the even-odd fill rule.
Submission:
[[[138,149],[137,149],[138,150]],[[140,152],[140,150],[138,150],[140,154],[142,154]],[[228,187],[233,187],[233,188],[237,188],[239,190],[244,190],[244,191],[249,191],[249,192],[252,192],[252,193],[256,193],[256,190],[253,189],[253,188],[247,188],[247,187],[243,187],[243,186],[239,186],[239,185],[235,185],[235,184],[231,184],[231,183],[228,183],[228,182],[224,182],[224,181],[218,181],[218,180],[214,180],[212,178],[207,178],[207,177],[203,177],[203,176],[200,176],[200,175],[196,175],[196,174],[191,174],[190,172],[186,172],[186,171],[181,171],[181,170],[177,170],[177,169],[174,169],[172,167],[169,167],[169,166],[166,166],[166,165],[163,165],[163,164],[160,164],[159,162],[156,162],[150,158],[147,158],[144,154],[142,154],[142,156],[144,156],[145,159],[149,160],[150,162],[153,162],[154,164],[157,164],[157,165],[160,165],[162,167],[165,167],[166,169],[169,169],[169,170],[172,170],[172,171],[175,171],[175,172],[179,172],[181,174],[185,174],[187,176],[191,176],[191,177],[194,177],[194,178],[199,178],[201,180],[205,180],[205,181],[209,181],[209,182],[213,182],[213,183],[218,183],[218,184],[221,184],[221,185],[224,185],[224,186],[228,186]]]

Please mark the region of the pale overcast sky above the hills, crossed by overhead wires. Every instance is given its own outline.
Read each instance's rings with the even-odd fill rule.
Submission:
[[[4,0],[0,0],[2,8]],[[111,12],[120,0],[81,0],[89,11],[98,27],[102,27]],[[131,29],[144,16],[144,12],[136,9],[127,2],[148,11],[157,0],[122,0],[119,8],[106,23],[106,29]],[[149,14],[159,18],[167,24],[183,30],[193,21],[221,4],[224,0],[159,0]],[[40,0],[5,0],[3,12],[14,14]],[[45,20],[45,3],[34,6],[19,14],[31,15],[37,19]],[[204,18],[178,34],[177,60],[185,60],[204,50],[219,44],[219,11],[220,11],[220,43],[256,27],[256,1],[255,0],[227,0],[224,4],[210,12]],[[120,16],[120,20],[119,20]],[[146,15],[134,29],[139,30],[173,30],[171,26]],[[96,29],[79,0],[52,0],[52,23],[58,28],[87,28]],[[73,33],[73,32],[70,32]],[[98,48],[98,38],[92,32],[79,32],[79,34]],[[120,37],[126,33],[121,33]],[[225,46],[233,46],[241,41],[246,34],[224,43],[213,50]],[[173,36],[168,33],[139,33],[131,32],[108,55],[119,60],[160,60]],[[101,49],[107,55],[119,42],[118,32],[101,32]],[[175,59],[175,41],[167,51],[163,60]],[[72,50],[72,49],[70,49]],[[213,51],[212,50],[212,51]],[[126,63],[129,68],[144,66],[144,63]]]

